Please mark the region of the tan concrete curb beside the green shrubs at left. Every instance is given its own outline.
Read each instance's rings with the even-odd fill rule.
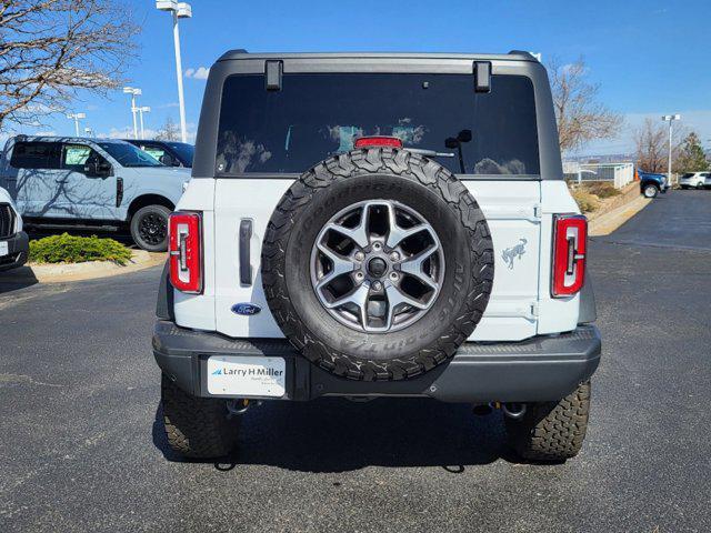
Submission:
[[[113,275],[157,266],[166,262],[166,253],[151,253],[144,250],[133,250],[128,264],[121,266],[111,261],[90,261],[86,263],[29,263],[17,270],[9,270],[0,274],[0,281],[40,283],[62,283],[68,281],[97,280]]]

